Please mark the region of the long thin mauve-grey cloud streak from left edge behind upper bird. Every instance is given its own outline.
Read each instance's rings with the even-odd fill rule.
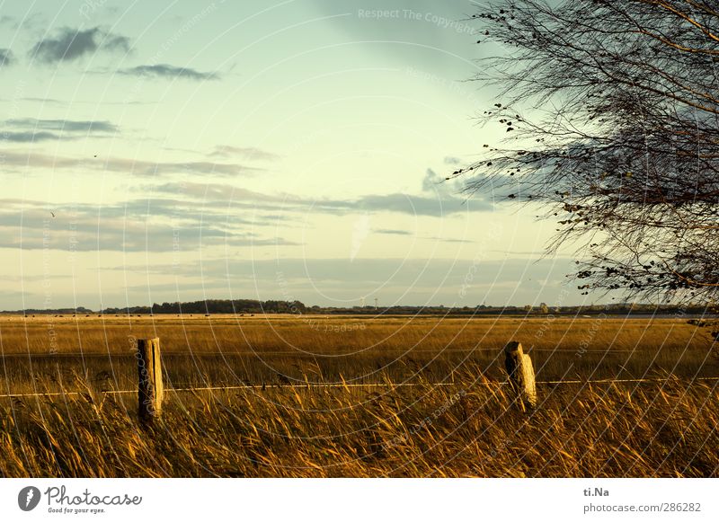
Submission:
[[[0,135],[2,137],[2,135]],[[2,139],[0,139],[2,141]],[[46,155],[35,151],[0,150],[3,156],[4,169],[18,173],[28,170],[48,168],[82,169],[101,173],[123,173],[127,175],[154,176],[162,174],[216,174],[222,176],[235,176],[246,173],[259,172],[262,169],[248,167],[243,164],[215,163],[215,162],[150,162],[134,158],[119,157],[86,157],[73,158],[60,155]]]

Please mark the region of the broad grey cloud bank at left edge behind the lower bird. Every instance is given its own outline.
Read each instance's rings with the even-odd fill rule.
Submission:
[[[177,199],[132,199],[103,206],[0,199],[0,248],[173,252],[295,244],[263,236],[257,232],[262,225]]]

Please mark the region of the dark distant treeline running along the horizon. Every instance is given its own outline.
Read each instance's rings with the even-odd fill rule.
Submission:
[[[612,305],[584,306],[351,306],[323,307],[307,306],[300,301],[259,301],[256,299],[207,299],[189,303],[155,303],[152,306],[129,306],[125,308],[105,308],[95,312],[84,306],[77,308],[55,308],[47,310],[26,309],[5,311],[0,314],[398,314],[398,315],[574,315],[574,314],[660,314],[688,315],[715,314],[707,305],[643,305],[636,303],[617,303]]]

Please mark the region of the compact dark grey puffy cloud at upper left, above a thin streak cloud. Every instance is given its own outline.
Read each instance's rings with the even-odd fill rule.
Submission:
[[[129,39],[103,31],[99,27],[86,31],[63,29],[56,38],[40,40],[31,50],[31,58],[44,63],[73,61],[98,50],[129,52]]]

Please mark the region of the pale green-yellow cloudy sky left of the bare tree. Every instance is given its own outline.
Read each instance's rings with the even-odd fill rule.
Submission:
[[[445,181],[503,138],[475,5],[0,0],[0,309],[585,302]]]

